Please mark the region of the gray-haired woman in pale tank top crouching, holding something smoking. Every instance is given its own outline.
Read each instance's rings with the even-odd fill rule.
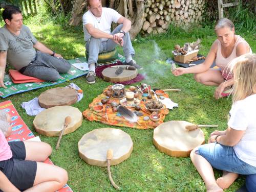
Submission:
[[[234,25],[227,18],[220,19],[216,26],[215,32],[217,39],[211,45],[209,54],[205,61],[197,66],[190,68],[179,67],[173,74],[180,76],[183,74],[195,74],[195,79],[204,85],[218,86],[215,90],[214,97],[219,99],[225,97],[223,91],[226,87],[233,85],[233,78],[228,63],[234,58],[246,53],[251,53],[249,44],[239,35],[234,33]],[[210,68],[211,64],[216,61],[220,69]]]

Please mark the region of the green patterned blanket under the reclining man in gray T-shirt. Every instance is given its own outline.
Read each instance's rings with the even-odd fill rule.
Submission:
[[[109,64],[116,63],[117,61],[124,61],[124,57],[121,55],[118,55],[118,59],[116,59],[115,61]],[[83,63],[83,62],[87,62],[87,60],[84,57],[80,57],[76,59],[71,59],[69,60],[69,62],[71,64]],[[88,71],[79,70],[74,66],[72,66],[67,74],[60,74],[61,77],[56,82],[35,82],[35,83],[20,83],[20,84],[14,84],[10,76],[7,74],[5,75],[5,79],[4,79],[5,86],[7,87],[7,89],[0,87],[0,97],[7,98],[10,95],[17,94],[20,92],[26,92],[26,91],[38,89],[41,87],[56,85],[56,84],[63,83],[65,81],[69,81],[69,80],[78,78],[80,76],[86,75],[87,73]]]

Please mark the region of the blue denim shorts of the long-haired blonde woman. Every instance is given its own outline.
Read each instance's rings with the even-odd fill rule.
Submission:
[[[215,169],[241,175],[256,174],[256,166],[239,159],[232,147],[209,143],[199,146],[196,154],[203,156]]]

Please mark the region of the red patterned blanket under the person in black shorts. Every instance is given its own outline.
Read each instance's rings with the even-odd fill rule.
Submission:
[[[12,133],[7,138],[8,142],[27,140],[35,137],[34,134],[30,131],[28,126],[25,124],[23,119],[19,116],[18,112],[14,108],[11,101],[5,101],[0,103],[0,110],[6,110],[11,116],[11,126]],[[52,161],[48,158],[45,163],[53,164]],[[63,186],[58,192],[71,192],[73,191],[68,184]]]

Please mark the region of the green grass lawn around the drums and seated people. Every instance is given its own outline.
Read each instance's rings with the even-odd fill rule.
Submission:
[[[82,28],[78,30],[61,29],[49,22],[47,25],[28,23],[28,26],[36,38],[49,46],[56,53],[60,53],[66,59],[84,57],[84,40]],[[198,29],[197,31],[200,31]],[[217,124],[220,130],[227,127],[227,114],[231,107],[231,98],[215,100],[213,98],[215,87],[207,87],[197,83],[193,75],[175,77],[170,73],[170,66],[165,63],[167,57],[172,57],[172,50],[176,43],[183,45],[185,42],[197,40],[197,33],[176,37],[151,37],[139,38],[133,42],[136,51],[135,60],[143,66],[141,73],[147,77],[143,81],[152,87],[162,89],[180,88],[181,92],[169,92],[169,97],[179,108],[170,110],[165,117],[165,122],[172,120],[184,120],[197,124]],[[251,33],[241,34],[250,44],[252,51],[256,51],[255,35]],[[202,47],[200,54],[207,55],[211,43],[216,39],[213,31],[204,34],[201,38]],[[121,49],[119,49],[122,53]],[[85,77],[79,77],[71,82],[77,84],[84,93],[83,99],[74,104],[80,111],[88,108],[92,100],[111,83],[96,79],[96,84],[88,85]],[[63,87],[70,82],[56,86],[45,87],[20,93],[1,99],[11,100],[20,116],[35,135],[38,135],[32,122],[34,117],[28,116],[20,107],[22,102],[27,102],[38,97],[41,92],[53,87]],[[75,132],[62,137],[60,148],[56,151],[57,137],[40,136],[42,141],[50,143],[53,148],[51,160],[63,167],[69,173],[68,184],[74,191],[115,191],[109,179],[105,167],[92,166],[84,162],[78,156],[77,143],[83,134],[104,127],[113,127],[89,122],[83,119],[82,126]],[[159,152],[153,145],[153,130],[137,130],[132,128],[118,128],[130,134],[134,143],[131,157],[124,162],[112,166],[112,174],[117,185],[123,191],[204,191],[204,182],[196,171],[190,158],[175,158]],[[205,139],[208,139],[214,128],[203,128]],[[216,177],[221,175],[215,171]],[[235,191],[244,183],[244,177],[232,184],[226,191]]]

